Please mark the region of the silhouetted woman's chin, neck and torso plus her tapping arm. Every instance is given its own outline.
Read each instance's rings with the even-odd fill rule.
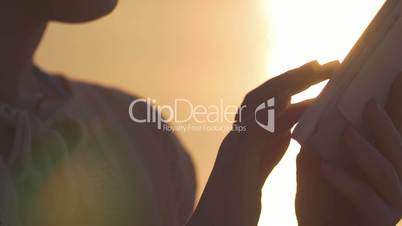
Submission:
[[[291,95],[327,79],[338,65],[313,62],[247,95],[249,110],[238,120],[247,131],[223,141],[190,217],[194,169],[173,135],[157,125],[133,124],[127,109],[134,97],[48,76],[32,62],[49,21],[93,20],[112,11],[116,1],[0,1],[4,225],[256,225],[262,185],[311,103],[290,105]],[[258,127],[250,111],[270,97],[277,98],[280,112],[274,134]],[[134,114],[143,116],[146,108]]]

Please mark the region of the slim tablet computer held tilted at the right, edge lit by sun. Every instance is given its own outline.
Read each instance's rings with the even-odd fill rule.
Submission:
[[[295,128],[301,144],[316,146],[325,159],[342,158],[339,136],[348,124],[361,126],[367,102],[385,105],[402,71],[402,0],[388,0],[335,72],[316,103]]]

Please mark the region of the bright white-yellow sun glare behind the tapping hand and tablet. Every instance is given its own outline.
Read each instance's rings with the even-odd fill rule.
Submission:
[[[277,75],[311,60],[343,60],[384,0],[265,0],[270,15],[268,71]],[[323,83],[294,97],[317,95]],[[263,192],[260,226],[296,226],[295,159],[299,146],[292,142]]]

